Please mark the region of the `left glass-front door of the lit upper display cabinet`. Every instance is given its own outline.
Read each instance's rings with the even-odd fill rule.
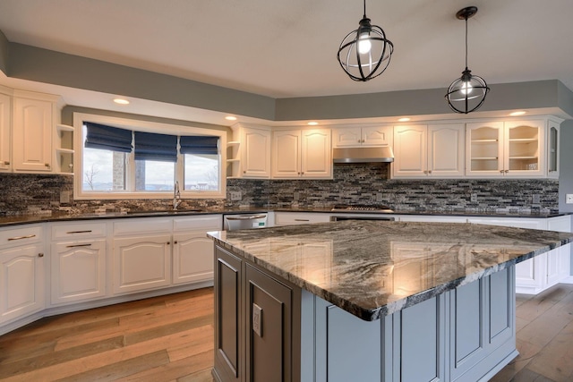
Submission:
[[[466,124],[466,175],[502,176],[503,123]]]

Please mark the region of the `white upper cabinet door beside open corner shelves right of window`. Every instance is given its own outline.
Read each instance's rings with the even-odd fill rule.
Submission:
[[[270,177],[270,132],[244,129],[242,140],[242,176],[252,178]]]

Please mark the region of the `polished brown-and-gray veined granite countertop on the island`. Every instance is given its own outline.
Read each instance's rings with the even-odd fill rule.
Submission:
[[[566,244],[573,233],[491,225],[343,221],[208,233],[269,272],[364,320]]]

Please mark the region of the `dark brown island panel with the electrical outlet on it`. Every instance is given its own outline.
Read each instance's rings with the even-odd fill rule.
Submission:
[[[245,380],[292,380],[293,291],[248,264],[245,276]]]

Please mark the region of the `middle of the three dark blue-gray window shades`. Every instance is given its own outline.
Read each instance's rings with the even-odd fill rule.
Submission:
[[[135,132],[135,160],[177,161],[177,136]]]

